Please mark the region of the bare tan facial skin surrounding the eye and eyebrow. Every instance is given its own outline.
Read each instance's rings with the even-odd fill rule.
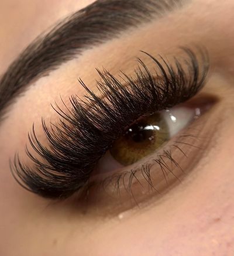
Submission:
[[[1,1],[0,73],[43,30],[91,2]],[[194,0],[165,18],[85,51],[18,98],[0,127],[1,255],[233,255],[233,13],[232,0]],[[39,129],[42,116],[56,120],[50,104],[60,102],[60,95],[66,102],[71,94],[84,95],[77,77],[95,91],[95,67],[107,67],[115,75],[119,70],[131,74],[136,56],[142,56],[139,50],[171,56],[178,46],[194,43],[209,51],[211,73],[204,91],[219,100],[207,113],[211,143],[182,183],[161,198],[149,196],[140,208],[108,215],[81,213],[71,206],[72,200],[51,203],[15,182],[9,158],[15,151],[23,152],[33,122]]]

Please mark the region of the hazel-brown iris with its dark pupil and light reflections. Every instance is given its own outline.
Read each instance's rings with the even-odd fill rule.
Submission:
[[[127,166],[150,155],[168,139],[167,121],[162,114],[156,113],[132,124],[125,135],[115,141],[110,152],[116,161]]]

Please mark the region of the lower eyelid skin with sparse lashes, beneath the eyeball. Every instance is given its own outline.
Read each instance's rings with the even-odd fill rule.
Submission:
[[[97,180],[97,177],[91,179],[82,192],[88,194],[85,197],[88,200],[82,201],[82,206],[89,209],[98,207],[102,212],[118,214],[135,206],[143,206],[154,195],[160,199],[172,187],[183,182],[207,152],[216,131],[216,115],[213,112],[210,110],[202,115],[171,139],[160,152],[133,164],[130,169],[125,167],[111,175],[104,173]]]

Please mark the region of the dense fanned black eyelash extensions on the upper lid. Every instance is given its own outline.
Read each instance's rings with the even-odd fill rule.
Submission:
[[[99,96],[80,79],[87,91],[85,100],[72,95],[70,108],[63,103],[67,113],[56,104],[53,108],[60,116],[56,124],[47,126],[42,118],[48,146],[39,141],[33,125],[29,134],[33,152],[26,146],[33,166],[25,165],[16,153],[10,163],[16,181],[25,189],[51,199],[69,197],[84,187],[99,159],[124,134],[126,127],[143,115],[189,100],[202,88],[209,67],[207,52],[199,50],[200,66],[192,50],[183,48],[183,51],[187,57],[182,62],[174,58],[172,64],[143,52],[154,63],[154,74],[137,59],[135,76],[122,72],[123,83],[109,71],[97,70],[101,78],[97,81]]]

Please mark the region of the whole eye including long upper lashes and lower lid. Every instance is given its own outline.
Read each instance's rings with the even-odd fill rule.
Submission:
[[[181,52],[171,61],[142,53],[151,66],[138,59],[131,75],[98,70],[98,94],[80,80],[85,98],[57,103],[60,120],[42,119],[46,142],[33,127],[26,160],[16,153],[11,169],[20,185],[50,199],[88,195],[90,202],[116,204],[107,198],[118,195],[129,207],[129,193],[138,204],[178,182],[193,169],[204,136],[200,119],[214,104],[200,92],[208,53]]]

